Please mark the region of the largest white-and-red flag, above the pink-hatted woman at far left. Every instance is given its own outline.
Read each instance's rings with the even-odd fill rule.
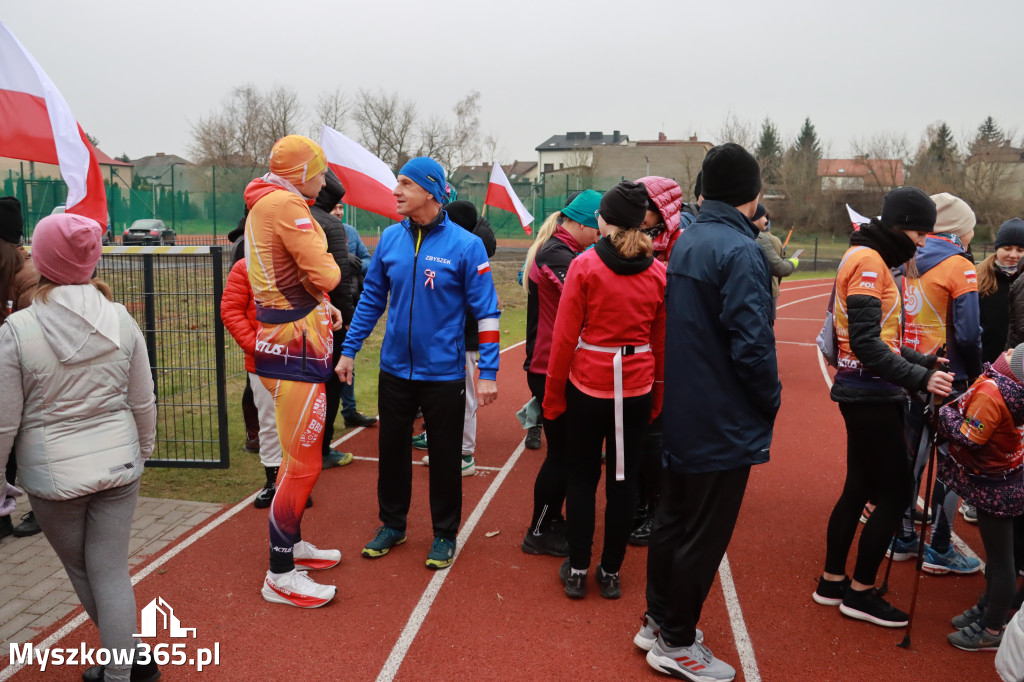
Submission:
[[[106,224],[96,153],[42,67],[0,22],[0,157],[60,167],[68,213]]]

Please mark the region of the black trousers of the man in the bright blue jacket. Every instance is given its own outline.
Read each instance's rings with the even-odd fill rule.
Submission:
[[[430,516],[435,538],[455,542],[462,520],[462,432],[466,417],[466,384],[416,381],[380,373],[378,383],[377,501],[384,525],[406,531],[413,495],[413,422],[416,411],[430,426]]]

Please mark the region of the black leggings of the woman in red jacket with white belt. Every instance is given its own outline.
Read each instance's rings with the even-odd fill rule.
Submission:
[[[594,506],[601,479],[601,443],[615,440],[614,402],[611,398],[587,395],[566,382],[566,433],[571,435],[566,450],[568,484],[565,491],[565,520],[569,541],[569,562],[573,568],[590,566],[594,544]],[[626,557],[626,541],[633,526],[636,470],[640,464],[643,436],[650,420],[651,394],[623,399],[623,453],[626,480],[615,480],[615,463],[608,453],[604,474],[607,505],[604,510],[604,547],[601,567],[618,572]],[[610,450],[610,449],[609,449]]]

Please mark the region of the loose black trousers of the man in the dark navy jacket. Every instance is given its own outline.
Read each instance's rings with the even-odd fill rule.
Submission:
[[[647,548],[647,614],[672,646],[689,646],[736,527],[750,466],[681,474],[666,467]]]

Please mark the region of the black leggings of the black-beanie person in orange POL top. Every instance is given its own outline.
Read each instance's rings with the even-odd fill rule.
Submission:
[[[872,500],[877,507],[860,534],[853,580],[874,585],[913,485],[903,439],[903,404],[840,403],[839,409],[846,421],[846,482],[828,519],[825,572],[846,574],[861,509]]]

